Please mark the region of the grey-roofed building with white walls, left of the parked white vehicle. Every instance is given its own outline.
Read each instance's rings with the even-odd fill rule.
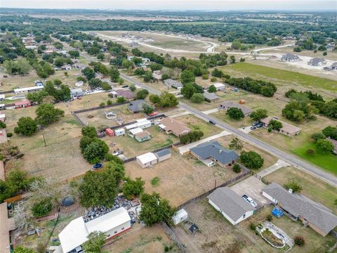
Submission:
[[[253,215],[254,207],[228,187],[220,187],[207,196],[209,204],[233,225]]]

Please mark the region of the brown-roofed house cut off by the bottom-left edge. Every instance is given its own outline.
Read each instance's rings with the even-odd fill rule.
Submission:
[[[7,202],[0,204],[0,252],[11,252],[11,245],[15,241],[14,233],[15,230],[14,218],[8,218]]]

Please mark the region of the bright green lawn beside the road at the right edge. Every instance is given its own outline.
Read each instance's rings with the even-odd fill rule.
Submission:
[[[315,150],[315,155],[309,155],[307,153],[307,150],[309,148]],[[293,149],[293,153],[337,175],[337,157],[335,155],[332,155],[331,153],[324,154],[320,152],[319,150],[317,150],[314,143],[301,145],[300,147]]]

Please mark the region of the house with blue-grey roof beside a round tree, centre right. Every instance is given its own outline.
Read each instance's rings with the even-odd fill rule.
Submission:
[[[239,158],[239,155],[234,150],[223,148],[218,141],[201,143],[191,148],[191,154],[209,167],[215,163],[221,167],[230,166]]]

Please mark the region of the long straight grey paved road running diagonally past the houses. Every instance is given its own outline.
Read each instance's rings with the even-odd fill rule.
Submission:
[[[126,79],[128,82],[131,82],[135,85],[138,85],[140,87],[143,87],[144,89],[147,89],[151,93],[154,94],[160,94],[160,91],[157,91],[156,89],[151,88],[150,86],[147,86],[146,84],[143,84],[142,82],[139,82],[136,79],[133,79],[132,77],[129,77],[126,74],[121,73],[121,77]],[[318,167],[315,167],[313,164],[309,164],[308,162],[305,162],[303,160],[300,160],[298,157],[295,157],[289,153],[285,153],[282,150],[279,150],[278,148],[273,147],[272,145],[269,145],[263,141],[260,141],[258,138],[255,138],[249,134],[244,133],[243,131],[239,129],[235,129],[234,127],[225,124],[224,122],[220,121],[219,119],[213,118],[209,115],[204,114],[203,112],[197,110],[196,108],[192,108],[190,105],[187,105],[185,103],[179,102],[179,107],[183,108],[189,112],[191,112],[194,115],[197,115],[198,117],[201,117],[206,120],[213,120],[216,122],[218,126],[220,126],[222,129],[225,129],[226,131],[229,131],[230,133],[236,135],[238,138],[241,138],[244,141],[247,141],[253,145],[256,145],[258,148],[267,151],[268,153],[271,153],[272,155],[275,155],[279,159],[284,160],[284,162],[288,162],[289,164],[293,165],[294,167],[297,167],[298,169],[302,169],[303,171],[308,172],[309,174],[312,174],[313,176],[318,177],[319,179],[322,179],[323,181],[326,181],[327,183],[330,183],[333,186],[337,186],[337,178],[336,176],[333,176],[332,174],[323,171],[322,169],[319,169]]]

